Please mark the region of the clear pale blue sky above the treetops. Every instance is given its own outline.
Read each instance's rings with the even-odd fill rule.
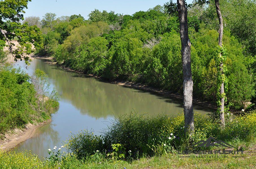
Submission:
[[[87,15],[94,9],[132,15],[138,11],[147,11],[149,8],[153,8],[156,5],[163,6],[163,4],[167,2],[169,2],[169,0],[32,0],[28,3],[28,9],[25,9],[26,13],[24,14],[24,18],[38,16],[42,19],[45,13],[55,13],[57,17],[81,14],[85,19],[88,19]],[[192,3],[192,0],[187,0],[186,2]]]

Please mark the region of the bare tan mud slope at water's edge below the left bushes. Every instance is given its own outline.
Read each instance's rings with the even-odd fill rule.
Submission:
[[[5,139],[0,140],[0,149],[1,151],[9,151],[16,147],[18,144],[22,143],[23,141],[26,141],[29,138],[34,137],[36,133],[36,129],[38,127],[47,125],[51,122],[51,119],[41,122],[38,124],[26,124],[24,129],[14,129],[11,131],[8,131],[5,134]]]

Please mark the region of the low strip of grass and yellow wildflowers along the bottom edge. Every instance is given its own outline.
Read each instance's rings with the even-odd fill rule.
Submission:
[[[93,157],[78,160],[74,156],[67,155],[62,161],[50,163],[40,161],[38,157],[24,152],[10,152],[0,155],[0,168],[255,168],[256,151],[246,151],[239,158],[232,155],[219,155],[219,158],[182,158],[180,154],[165,154],[162,156],[142,157],[139,160],[123,161],[112,159],[94,159]]]

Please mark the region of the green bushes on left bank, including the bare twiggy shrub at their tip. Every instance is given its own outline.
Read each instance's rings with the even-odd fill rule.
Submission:
[[[21,68],[10,65],[0,67],[0,133],[27,123],[42,122],[50,118],[52,109],[58,106],[56,97],[39,101],[34,84]],[[40,95],[40,94],[39,94]]]

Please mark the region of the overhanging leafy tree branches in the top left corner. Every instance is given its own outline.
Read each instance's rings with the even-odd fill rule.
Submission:
[[[0,50],[5,46],[8,47],[10,53],[14,56],[14,60],[31,61],[29,57],[23,56],[23,53],[30,54],[32,52],[32,44],[36,48],[42,47],[42,37],[40,29],[34,25],[29,26],[27,22],[21,24],[19,21],[24,20],[23,14],[27,9],[27,3],[31,0],[1,0],[0,1]],[[14,44],[10,41],[14,37],[18,38],[19,46],[13,48]],[[5,43],[8,43],[7,45]]]

